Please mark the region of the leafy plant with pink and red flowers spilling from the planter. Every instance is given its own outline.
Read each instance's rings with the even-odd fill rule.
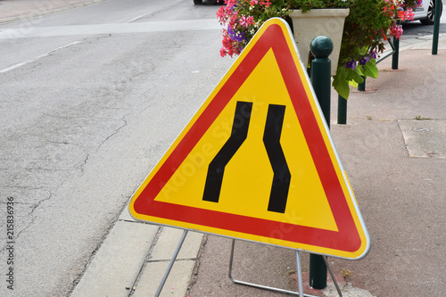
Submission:
[[[365,77],[376,78],[376,59],[388,37],[401,37],[400,21],[413,20],[412,8],[421,0],[224,0],[217,16],[223,29],[221,56],[240,54],[270,18],[285,20],[293,9],[350,8],[345,19],[341,54],[333,77],[336,92],[347,99],[350,87]]]

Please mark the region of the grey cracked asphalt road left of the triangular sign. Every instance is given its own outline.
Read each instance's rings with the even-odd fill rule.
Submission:
[[[9,198],[14,222],[14,291],[2,231],[1,296],[70,293],[232,62],[218,7],[111,0],[0,26],[0,217]]]

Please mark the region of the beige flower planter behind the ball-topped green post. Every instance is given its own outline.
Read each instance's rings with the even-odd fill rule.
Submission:
[[[301,10],[294,10],[290,13],[290,18],[293,21],[294,39],[303,65],[308,63],[311,40],[319,35],[325,35],[333,41],[333,53],[329,58],[332,62],[331,74],[336,74],[343,39],[343,23],[349,12],[348,8],[341,8],[311,9],[310,12],[305,13],[302,13]]]

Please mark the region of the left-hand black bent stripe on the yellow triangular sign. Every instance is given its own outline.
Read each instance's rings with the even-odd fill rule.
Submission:
[[[208,176],[202,194],[203,201],[219,202],[225,167],[248,136],[251,111],[252,103],[237,101],[231,136],[209,164]]]

